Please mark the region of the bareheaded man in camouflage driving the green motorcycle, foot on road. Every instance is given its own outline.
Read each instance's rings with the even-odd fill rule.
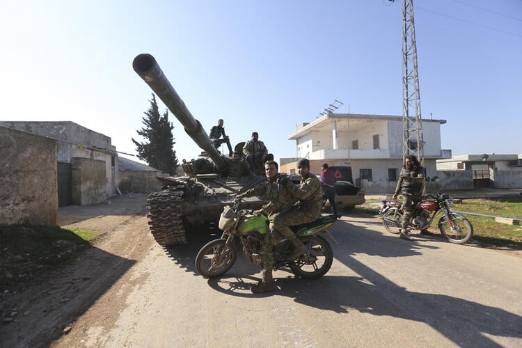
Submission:
[[[274,269],[274,243],[272,241],[272,238],[274,238],[274,228],[272,219],[274,219],[274,216],[279,212],[290,209],[296,202],[296,198],[292,196],[292,193],[290,193],[283,184],[279,183],[284,176],[278,173],[278,164],[276,161],[267,161],[264,164],[264,172],[265,175],[267,175],[267,182],[263,182],[258,187],[254,187],[237,195],[237,198],[262,195],[269,199],[269,203],[253,212],[255,216],[267,214],[270,221],[270,231],[264,236],[260,247],[263,267],[262,280],[251,287],[251,291],[255,294],[277,290],[274,278],[272,278],[272,269]]]

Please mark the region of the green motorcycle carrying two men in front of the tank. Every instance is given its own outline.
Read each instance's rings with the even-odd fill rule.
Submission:
[[[196,256],[196,269],[207,278],[221,276],[226,273],[237,259],[234,239],[241,241],[242,250],[248,261],[261,264],[260,246],[264,235],[269,232],[267,216],[254,216],[251,210],[239,209],[240,200],[235,200],[232,207],[226,206],[219,219],[219,228],[223,230],[221,238],[205,244]],[[329,271],[333,262],[330,244],[319,233],[329,236],[333,242],[329,228],[338,216],[320,216],[319,219],[292,230],[306,246],[306,253],[294,260],[288,260],[292,246],[288,239],[281,237],[274,245],[274,270],[288,267],[296,276],[306,279],[317,279]],[[275,239],[275,238],[274,238]],[[274,244],[274,243],[273,243]]]

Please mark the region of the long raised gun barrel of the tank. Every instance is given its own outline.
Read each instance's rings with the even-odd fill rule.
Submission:
[[[173,115],[181,122],[185,132],[189,134],[191,139],[198,144],[198,146],[207,152],[210,158],[214,161],[219,170],[226,168],[226,161],[219,155],[219,152],[214,148],[209,136],[201,127],[201,124],[194,118],[185,106],[185,103],[177,95],[175,89],[165,77],[156,59],[150,54],[139,54],[132,61],[132,68],[136,74],[145,81],[150,88],[157,94]]]

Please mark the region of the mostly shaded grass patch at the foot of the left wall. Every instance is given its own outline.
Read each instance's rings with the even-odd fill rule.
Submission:
[[[10,287],[46,269],[68,262],[99,232],[58,226],[0,226],[0,287]]]

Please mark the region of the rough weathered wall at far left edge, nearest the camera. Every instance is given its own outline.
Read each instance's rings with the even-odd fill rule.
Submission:
[[[0,127],[0,223],[56,225],[56,141]]]

